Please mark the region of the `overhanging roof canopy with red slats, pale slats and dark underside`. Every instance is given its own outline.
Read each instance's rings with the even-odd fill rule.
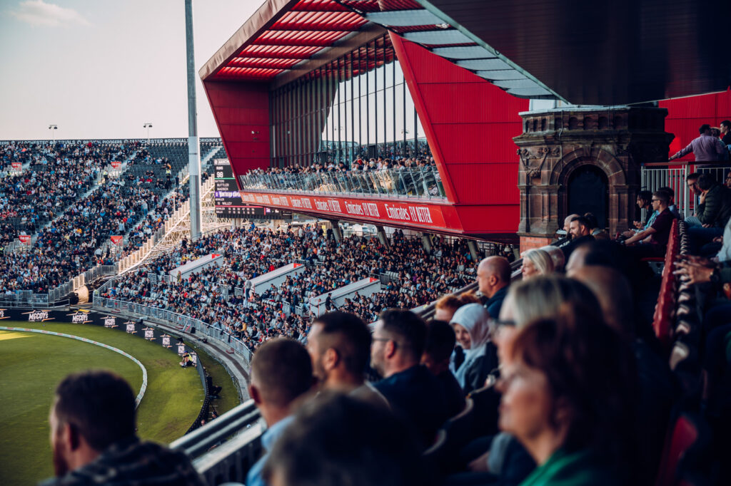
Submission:
[[[632,104],[725,90],[730,18],[729,1],[268,0],[200,76],[284,82],[383,26],[514,96]]]

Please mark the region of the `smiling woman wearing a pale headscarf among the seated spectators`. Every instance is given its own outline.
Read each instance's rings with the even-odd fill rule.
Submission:
[[[455,377],[465,394],[485,386],[485,379],[498,366],[497,349],[490,340],[490,315],[480,304],[457,309],[450,324],[464,350],[464,361]]]

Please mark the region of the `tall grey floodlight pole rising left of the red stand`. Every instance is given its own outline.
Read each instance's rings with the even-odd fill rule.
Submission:
[[[190,238],[200,237],[200,144],[195,104],[195,55],[193,52],[193,0],[185,0],[185,40],[188,61],[188,172],[190,185]]]

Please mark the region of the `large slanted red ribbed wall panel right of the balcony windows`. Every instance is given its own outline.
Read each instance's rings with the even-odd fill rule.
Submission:
[[[466,233],[515,233],[519,112],[529,101],[391,34],[447,196]]]

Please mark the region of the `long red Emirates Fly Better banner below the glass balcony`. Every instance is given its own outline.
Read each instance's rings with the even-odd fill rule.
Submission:
[[[294,212],[319,212],[384,223],[402,223],[446,228],[439,204],[363,201],[341,197],[285,196],[240,191],[244,202],[291,209]]]

